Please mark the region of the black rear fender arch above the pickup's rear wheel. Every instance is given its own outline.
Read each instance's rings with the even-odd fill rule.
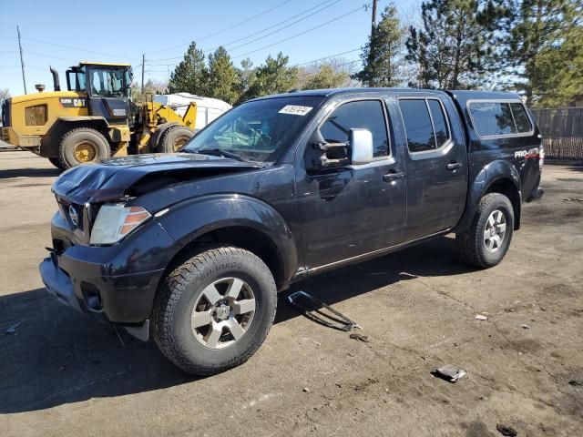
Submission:
[[[461,232],[471,225],[474,216],[476,216],[480,199],[484,197],[492,184],[500,179],[511,180],[515,188],[517,188],[518,197],[521,198],[520,175],[517,168],[505,160],[496,159],[480,169],[476,174],[476,178],[469,181],[464,214],[459,223],[452,229],[453,232]],[[519,203],[522,203],[522,198]]]

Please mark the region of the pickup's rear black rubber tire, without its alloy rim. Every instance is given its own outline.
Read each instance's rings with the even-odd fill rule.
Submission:
[[[493,211],[500,210],[506,219],[506,234],[496,252],[486,249],[484,232],[486,220]],[[455,245],[460,258],[480,269],[496,266],[506,255],[514,230],[514,209],[510,200],[500,193],[486,194],[478,205],[476,216],[468,229],[455,234]]]

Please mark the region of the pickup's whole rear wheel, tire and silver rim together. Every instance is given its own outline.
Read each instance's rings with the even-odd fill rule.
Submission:
[[[494,267],[506,255],[514,230],[514,209],[499,193],[486,194],[471,226],[455,234],[461,258],[480,269]]]

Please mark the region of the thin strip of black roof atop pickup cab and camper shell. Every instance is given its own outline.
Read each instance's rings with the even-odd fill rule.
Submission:
[[[330,89],[309,89],[304,91],[290,91],[283,94],[272,96],[258,97],[253,100],[262,100],[267,98],[279,97],[332,97],[351,94],[378,94],[378,93],[407,93],[407,94],[447,94],[458,100],[470,99],[520,99],[516,93],[505,93],[496,91],[467,91],[467,90],[436,90],[436,89],[419,89],[419,88],[330,88]]]

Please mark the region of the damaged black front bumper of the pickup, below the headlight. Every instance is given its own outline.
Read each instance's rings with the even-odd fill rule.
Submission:
[[[174,240],[152,220],[117,245],[76,246],[67,239],[65,220],[56,214],[52,224],[53,243],[64,249],[52,250],[39,265],[46,290],[68,307],[148,340],[154,296]]]

